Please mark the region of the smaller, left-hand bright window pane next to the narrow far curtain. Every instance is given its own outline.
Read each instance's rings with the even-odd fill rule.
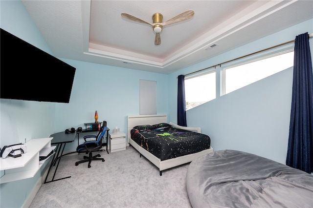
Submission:
[[[198,76],[185,77],[186,110],[216,98],[215,71]]]

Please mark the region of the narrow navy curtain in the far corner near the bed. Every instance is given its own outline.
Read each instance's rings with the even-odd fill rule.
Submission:
[[[177,94],[177,124],[181,126],[187,126],[185,103],[185,75],[178,76]]]

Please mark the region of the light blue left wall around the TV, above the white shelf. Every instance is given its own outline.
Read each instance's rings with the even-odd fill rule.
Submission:
[[[0,23],[2,29],[51,54],[50,48],[27,13],[22,1],[1,0]],[[13,61],[18,61],[19,56],[21,54],[17,48],[17,59]],[[12,77],[12,84],[14,85],[14,77]],[[0,104],[1,147],[24,142],[25,138],[28,141],[48,137],[54,130],[54,120],[51,119],[55,115],[53,103],[1,99]]]

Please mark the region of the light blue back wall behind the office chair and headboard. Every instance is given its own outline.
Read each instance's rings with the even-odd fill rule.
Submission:
[[[117,126],[127,132],[127,116],[139,115],[139,80],[156,81],[157,114],[168,113],[168,76],[89,62],[64,60],[76,68],[69,104],[56,104],[55,131],[98,121],[107,121],[112,132]],[[83,141],[80,137],[80,144]],[[77,138],[76,138],[77,140]],[[75,150],[77,141],[65,151]]]

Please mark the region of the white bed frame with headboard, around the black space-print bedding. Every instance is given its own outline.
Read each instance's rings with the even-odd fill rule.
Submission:
[[[160,175],[162,175],[162,170],[179,166],[185,163],[189,163],[194,159],[198,158],[201,155],[207,154],[213,151],[213,148],[210,147],[209,149],[202,150],[201,152],[180,156],[173,159],[163,160],[161,161],[159,158],[154,156],[152,153],[148,152],[143,147],[139,146],[134,140],[131,139],[131,130],[136,125],[155,125],[159,123],[168,123],[167,122],[167,115],[160,114],[160,115],[137,115],[137,116],[128,116],[127,117],[127,142],[133,146],[139,153],[140,157],[143,155],[147,158],[151,163],[157,166],[160,170]]]

